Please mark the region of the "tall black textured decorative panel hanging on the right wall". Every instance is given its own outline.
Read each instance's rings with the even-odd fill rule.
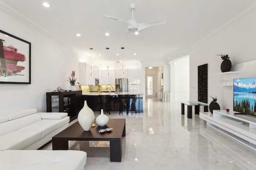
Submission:
[[[208,102],[208,64],[198,66],[198,102]]]

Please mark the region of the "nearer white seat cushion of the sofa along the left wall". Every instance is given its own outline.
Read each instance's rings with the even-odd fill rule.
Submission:
[[[24,149],[42,138],[41,131],[14,131],[0,136],[0,150]]]

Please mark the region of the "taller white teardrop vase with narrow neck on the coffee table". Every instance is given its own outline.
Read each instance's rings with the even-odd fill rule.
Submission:
[[[84,107],[78,113],[78,122],[84,131],[90,131],[92,123],[94,122],[94,112],[88,107],[86,100],[84,101]]]

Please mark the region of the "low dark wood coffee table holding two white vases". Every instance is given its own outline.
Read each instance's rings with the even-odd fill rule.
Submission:
[[[113,129],[110,132],[99,133],[100,129],[106,128]],[[121,162],[122,137],[125,136],[125,131],[125,119],[109,119],[106,126],[100,127],[96,124],[90,131],[84,131],[76,122],[52,137],[52,150],[68,150],[68,141],[110,141],[110,161]]]

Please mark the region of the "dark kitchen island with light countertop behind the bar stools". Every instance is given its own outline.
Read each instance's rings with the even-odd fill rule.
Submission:
[[[135,111],[135,113],[143,113],[143,94],[132,92],[83,92],[83,99],[86,100],[87,105],[93,111],[100,111],[99,95],[110,95],[111,104],[114,107],[110,107],[111,111],[118,111],[119,102],[118,94],[130,94],[129,111]]]

